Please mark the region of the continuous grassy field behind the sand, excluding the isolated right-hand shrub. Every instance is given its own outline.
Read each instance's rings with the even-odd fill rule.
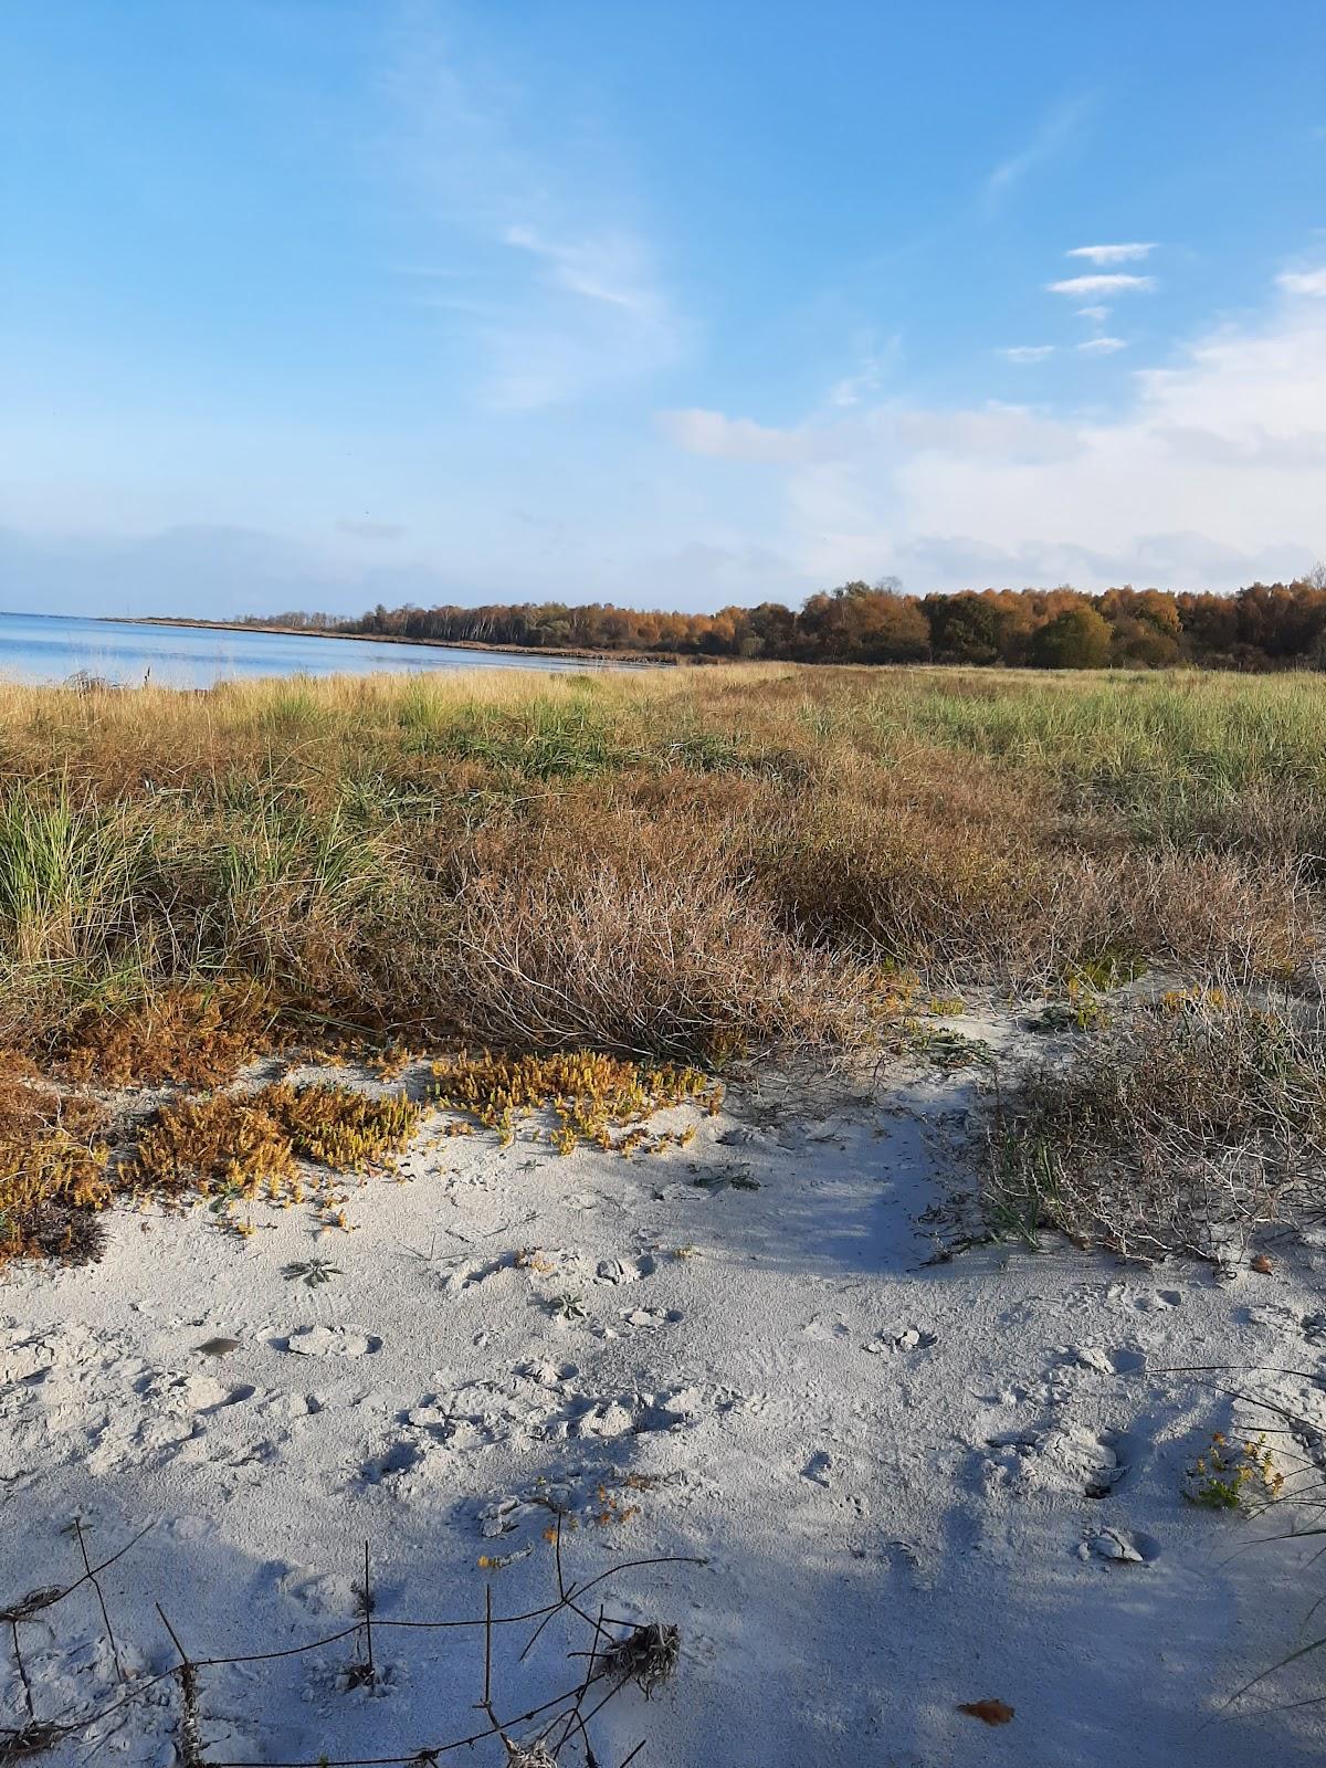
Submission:
[[[1317,677],[748,665],[0,693],[0,1041],[716,1057],[935,988],[1303,983]]]

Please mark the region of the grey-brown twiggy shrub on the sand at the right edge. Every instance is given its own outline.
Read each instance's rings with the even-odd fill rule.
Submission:
[[[1227,990],[1165,995],[1025,1073],[990,1144],[992,1220],[1027,1239],[1223,1257],[1324,1200],[1322,1025]]]

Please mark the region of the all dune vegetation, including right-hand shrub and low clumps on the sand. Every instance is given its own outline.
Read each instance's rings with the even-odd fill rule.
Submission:
[[[0,1050],[41,1199],[104,1206],[108,1142],[35,1082],[225,1087],[295,1047],[626,1063],[575,1144],[608,1093],[668,1091],[640,1064],[873,1059],[983,988],[1077,1034],[1071,1073],[1004,1077],[994,1231],[1209,1252],[1321,1190],[1321,695],[778,663],[4,688]],[[522,1087],[569,1110],[553,1068]],[[244,1119],[223,1188],[290,1142],[207,1110]],[[11,1254],[58,1243],[35,1144],[5,1146]]]

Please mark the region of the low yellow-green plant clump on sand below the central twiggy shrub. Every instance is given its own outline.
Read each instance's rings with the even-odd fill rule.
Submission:
[[[552,1144],[569,1155],[582,1140],[613,1153],[686,1146],[693,1130],[649,1132],[645,1121],[659,1110],[697,1105],[716,1112],[723,1086],[697,1068],[629,1063],[594,1050],[555,1055],[456,1057],[433,1066],[437,1103],[463,1110],[495,1130],[502,1146],[516,1137],[522,1117],[552,1112]]]

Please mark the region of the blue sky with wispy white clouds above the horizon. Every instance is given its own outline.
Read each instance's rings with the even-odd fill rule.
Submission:
[[[0,608],[1326,555],[1326,5],[5,0]]]

